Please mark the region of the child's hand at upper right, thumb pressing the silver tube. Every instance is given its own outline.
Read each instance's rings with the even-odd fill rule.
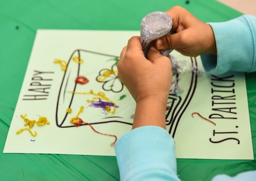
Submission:
[[[157,49],[176,49],[185,56],[216,54],[214,33],[210,25],[200,21],[185,8],[176,6],[165,13],[172,18],[172,33],[155,42]]]

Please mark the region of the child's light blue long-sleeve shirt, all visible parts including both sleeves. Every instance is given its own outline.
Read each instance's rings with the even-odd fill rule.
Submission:
[[[210,23],[217,56],[203,55],[202,63],[211,74],[227,71],[256,71],[256,17],[244,15],[228,22]],[[115,145],[121,180],[179,180],[174,140],[166,130],[143,126],[123,135]],[[256,171],[236,177],[219,175],[218,180],[254,180]]]

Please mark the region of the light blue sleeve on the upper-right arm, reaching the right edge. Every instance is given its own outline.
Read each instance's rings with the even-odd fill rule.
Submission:
[[[206,72],[256,71],[256,17],[243,15],[227,22],[209,23],[214,31],[217,56],[202,55]]]

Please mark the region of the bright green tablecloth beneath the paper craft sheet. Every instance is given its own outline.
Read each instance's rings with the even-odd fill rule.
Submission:
[[[181,5],[204,22],[226,21],[238,13],[214,0],[8,0],[0,1],[0,150],[18,100],[37,29],[139,30],[143,16]],[[199,35],[200,36],[200,35]],[[114,40],[113,40],[114,41]],[[254,150],[256,74],[246,75]],[[255,152],[254,152],[255,156]],[[116,157],[0,153],[0,180],[119,180]],[[178,159],[182,180],[211,180],[255,170],[255,160]]]

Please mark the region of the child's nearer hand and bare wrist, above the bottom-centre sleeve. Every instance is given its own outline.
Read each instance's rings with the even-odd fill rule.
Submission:
[[[165,111],[171,87],[171,61],[156,48],[145,58],[139,37],[123,48],[117,64],[118,77],[136,101],[133,129],[144,125],[165,128]]]

